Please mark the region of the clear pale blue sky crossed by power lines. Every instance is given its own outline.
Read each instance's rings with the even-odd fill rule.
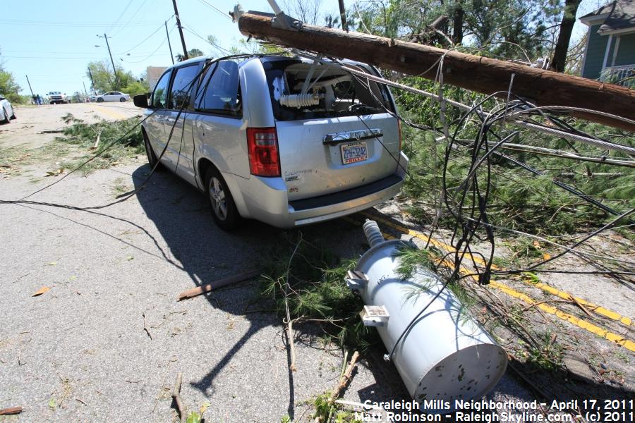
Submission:
[[[267,0],[240,3],[245,10],[271,11]],[[282,5],[282,1],[278,3]],[[584,0],[579,15],[598,3]],[[224,48],[237,44],[241,39],[238,25],[212,8],[226,13],[235,4],[236,0],[178,0],[186,47],[212,54],[213,47],[200,38],[207,35],[217,37]],[[335,13],[337,1],[322,0],[322,9]],[[90,90],[87,63],[103,59],[110,63],[106,43],[98,34],[111,37],[114,61],[134,75],[140,75],[147,66],[171,65],[164,21],[171,31],[173,53],[182,51],[173,15],[171,0],[13,1],[0,16],[0,63],[13,73],[22,94],[30,94],[25,75],[35,94],[83,92],[83,83]],[[576,32],[580,30],[578,23]]]

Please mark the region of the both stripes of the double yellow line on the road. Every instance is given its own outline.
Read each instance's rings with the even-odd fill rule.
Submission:
[[[410,228],[406,228],[405,226],[399,225],[397,223],[393,223],[392,221],[389,221],[387,219],[382,219],[382,217],[380,216],[374,216],[371,214],[368,214],[367,212],[361,212],[361,215],[367,217],[368,219],[373,219],[377,222],[382,223],[385,226],[389,226],[390,228],[393,228],[394,230],[400,232],[400,233],[404,233],[405,235],[410,235],[413,236],[415,238],[418,238],[420,240],[424,240],[424,241],[428,241],[428,235],[426,235],[425,233],[421,233],[419,231],[413,231]],[[344,218],[344,220],[349,221],[349,223],[353,223],[358,225],[359,222],[351,219],[351,218]],[[393,237],[392,235],[387,235],[385,234],[385,238],[388,239],[395,239],[395,237]],[[452,247],[452,245],[448,245],[446,243],[443,243],[439,240],[435,240],[434,238],[430,239],[430,244],[434,245],[437,248],[440,248],[441,250],[444,250],[446,252],[455,252],[456,250],[454,250],[454,247]],[[477,256],[473,256],[473,255],[469,255],[468,257],[470,257],[471,259],[474,260],[474,262],[478,263],[478,264],[485,264],[485,262],[483,261],[483,259],[481,259],[480,257]],[[453,267],[454,263],[449,262],[448,260],[444,260],[444,264],[449,266],[449,267]],[[499,269],[497,266],[492,266],[492,269]],[[468,269],[461,267],[459,269],[459,271],[461,272],[461,274],[471,274],[473,272],[469,271]],[[472,276],[472,278],[474,280],[476,280],[476,276]],[[613,312],[610,309],[607,309],[605,307],[600,307],[598,305],[594,305],[591,302],[587,302],[586,300],[583,300],[581,298],[577,298],[574,297],[573,295],[566,293],[562,290],[558,290],[556,288],[553,288],[552,286],[549,286],[545,283],[542,282],[538,282],[538,283],[531,283],[528,281],[525,281],[525,283],[528,283],[528,285],[534,286],[536,288],[539,288],[543,291],[545,291],[546,293],[550,293],[552,295],[555,295],[559,298],[562,298],[564,300],[569,300],[572,302],[576,302],[579,305],[582,305],[584,307],[587,307],[588,309],[590,309],[591,311],[600,314],[603,317],[607,317],[608,319],[612,319],[614,321],[619,322],[620,324],[624,324],[625,326],[629,327],[632,325],[632,321],[631,319],[629,319],[629,317],[624,317],[621,314],[617,313],[617,312]],[[496,288],[497,290],[501,290],[502,292],[506,293],[507,295],[510,295],[514,298],[518,298],[521,301],[526,302],[528,305],[532,305],[534,307],[538,307],[539,309],[543,310],[543,312],[547,312],[549,314],[554,315],[555,317],[558,317],[559,319],[562,319],[564,321],[568,321],[571,324],[574,324],[576,326],[578,326],[581,329],[584,329],[586,331],[589,331],[597,336],[601,336],[602,338],[605,338],[609,341],[615,342],[618,345],[622,345],[622,347],[627,348],[628,350],[634,351],[635,352],[635,342],[630,341],[627,338],[624,338],[624,336],[618,335],[617,333],[612,333],[610,331],[607,331],[606,329],[601,328],[600,326],[597,326],[595,324],[592,324],[589,321],[586,321],[584,319],[580,319],[579,317],[575,317],[573,314],[569,314],[566,312],[563,312],[562,310],[558,309],[557,307],[553,307],[552,305],[548,305],[545,304],[545,302],[539,302],[534,300],[533,298],[531,298],[529,295],[525,294],[525,293],[521,293],[517,290],[514,290],[514,288],[511,288],[507,285],[505,285],[504,283],[498,282],[498,281],[490,281],[490,287],[492,288]]]

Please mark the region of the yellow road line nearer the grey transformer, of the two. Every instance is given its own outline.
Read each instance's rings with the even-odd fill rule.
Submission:
[[[363,214],[364,216],[368,216],[372,219],[374,219],[375,221],[381,221],[382,223],[387,224],[388,226],[391,226],[392,228],[397,229],[399,232],[404,233],[405,231],[402,231],[401,228],[404,228],[404,230],[407,230],[407,234],[408,235],[413,235],[413,236],[417,236],[416,233],[417,231],[412,231],[408,228],[405,228],[404,226],[398,226],[393,224],[390,221],[387,221],[385,219],[381,219],[381,218],[377,218],[377,216],[371,216],[370,214],[366,214],[364,212],[362,212],[361,214]],[[350,218],[346,218],[346,221],[349,221],[351,223],[354,224],[360,224],[358,221],[355,221],[354,219],[350,219]],[[421,234],[421,233],[419,233]],[[423,234],[421,234],[423,235]],[[386,235],[385,235],[386,236]],[[417,236],[417,238],[420,238],[419,236]],[[425,239],[427,240],[428,237],[425,236]],[[430,241],[432,242],[432,241]],[[449,248],[449,245],[444,244],[444,243],[440,243],[440,245],[445,245]],[[446,248],[444,248],[444,250],[447,250]],[[452,249],[454,250],[454,249]],[[445,259],[442,261],[442,263],[446,266],[449,266],[450,268],[454,267],[454,263],[450,262],[449,260]],[[468,269],[466,269],[465,267],[460,267],[459,268],[459,272],[461,274],[467,275],[467,274],[471,274],[472,272],[469,271]],[[476,276],[471,276],[474,280],[476,280]],[[578,317],[575,317],[572,314],[569,313],[565,313],[560,309],[557,309],[556,307],[553,307],[551,305],[547,305],[544,302],[538,302],[536,300],[534,300],[533,298],[531,298],[529,295],[525,294],[525,293],[521,293],[517,290],[514,290],[513,288],[504,285],[504,283],[500,283],[498,281],[490,281],[490,286],[492,288],[496,288],[498,290],[502,290],[502,292],[506,293],[507,295],[510,295],[514,298],[518,298],[519,300],[523,300],[524,302],[530,304],[530,305],[535,305],[536,307],[540,308],[541,310],[543,310],[544,312],[548,312],[549,314],[554,315],[555,317],[558,317],[559,319],[568,321],[571,324],[574,324],[576,326],[578,326],[581,329],[585,329],[586,331],[589,331],[597,336],[601,336],[609,341],[615,342],[617,343],[617,345],[621,345],[624,348],[627,348],[628,350],[634,351],[635,352],[635,342],[633,341],[629,341],[627,338],[624,338],[623,336],[617,335],[616,333],[612,333],[610,331],[607,331],[606,329],[600,328],[599,326],[596,326],[595,324],[592,324],[586,320],[583,319],[579,319]],[[551,287],[550,287],[551,288]],[[553,288],[555,289],[555,288]],[[566,294],[566,293],[564,293]],[[588,303],[587,303],[588,304]]]

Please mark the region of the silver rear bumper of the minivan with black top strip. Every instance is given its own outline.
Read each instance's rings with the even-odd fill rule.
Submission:
[[[240,210],[242,207],[238,209],[243,217],[257,219],[278,228],[294,228],[337,219],[369,209],[399,194],[406,178],[407,166],[408,158],[401,153],[397,171],[386,178],[350,190],[291,202],[287,200],[284,183],[274,184],[273,181],[260,180],[262,184],[259,184],[258,189],[247,190],[251,195],[243,192],[246,210]],[[252,182],[255,182],[253,178]]]

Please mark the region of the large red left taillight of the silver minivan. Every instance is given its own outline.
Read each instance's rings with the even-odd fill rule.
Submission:
[[[247,128],[249,171],[255,176],[280,176],[276,128]]]

